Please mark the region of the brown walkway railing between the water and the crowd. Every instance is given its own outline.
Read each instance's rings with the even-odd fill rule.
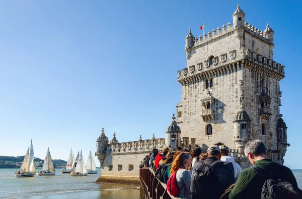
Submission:
[[[140,199],[181,199],[174,197],[167,191],[167,185],[161,182],[153,170],[149,168],[139,169]]]

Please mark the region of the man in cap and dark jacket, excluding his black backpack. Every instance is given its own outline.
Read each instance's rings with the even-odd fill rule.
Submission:
[[[206,152],[207,159],[198,161],[194,165],[194,169],[198,170],[203,167],[203,165],[213,165],[214,162],[215,165],[213,166],[214,175],[216,177],[216,183],[213,184],[213,187],[211,190],[211,198],[212,199],[219,199],[220,196],[224,193],[225,189],[228,188],[231,184],[234,184],[236,182],[234,177],[234,172],[231,168],[231,166],[228,163],[220,161],[221,152],[220,148],[217,145],[212,145],[207,149]],[[194,172],[194,171],[193,171]],[[194,182],[193,179],[191,183],[198,183]],[[202,195],[191,195],[192,198],[202,198]]]

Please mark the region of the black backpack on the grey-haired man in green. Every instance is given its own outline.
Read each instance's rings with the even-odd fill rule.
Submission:
[[[253,165],[259,175],[266,179],[262,186],[261,199],[297,199],[302,198],[301,190],[294,190],[292,183],[282,179],[274,179],[259,166]]]

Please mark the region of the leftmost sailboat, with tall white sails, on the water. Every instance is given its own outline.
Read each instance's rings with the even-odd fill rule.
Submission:
[[[15,177],[33,177],[34,175],[34,147],[32,141],[30,141],[30,148],[27,149],[20,169],[15,172]]]

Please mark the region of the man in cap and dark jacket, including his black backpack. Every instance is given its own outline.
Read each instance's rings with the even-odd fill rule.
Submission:
[[[225,189],[235,183],[231,166],[219,160],[219,146],[210,146],[206,155],[207,159],[198,161],[191,171],[192,199],[219,199]]]

